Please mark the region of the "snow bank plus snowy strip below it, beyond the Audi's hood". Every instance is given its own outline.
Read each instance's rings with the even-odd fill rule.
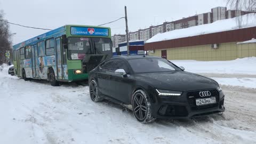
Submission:
[[[221,85],[256,88],[256,57],[230,61],[170,61],[177,66],[185,67],[185,71],[213,78]]]

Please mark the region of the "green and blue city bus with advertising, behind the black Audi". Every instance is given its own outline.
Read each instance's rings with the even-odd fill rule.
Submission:
[[[89,71],[111,57],[108,27],[66,25],[13,45],[14,75],[53,86],[86,81]]]

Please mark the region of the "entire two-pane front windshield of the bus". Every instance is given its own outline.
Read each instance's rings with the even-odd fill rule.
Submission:
[[[111,54],[110,38],[68,38],[68,59],[82,60],[86,54]]]

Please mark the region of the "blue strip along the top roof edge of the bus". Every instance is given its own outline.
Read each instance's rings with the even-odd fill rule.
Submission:
[[[65,26],[62,26],[62,27],[59,27],[57,29],[53,29],[51,31],[48,31],[47,33],[44,33],[44,34],[41,34],[41,35],[38,35],[36,37],[33,37],[33,38],[30,38],[24,42],[21,42],[21,43],[18,43],[18,44],[15,44],[13,45],[13,49],[16,50],[16,49],[19,49],[20,47],[22,46],[25,46],[25,45],[28,45],[30,43],[36,43],[37,41],[42,41],[42,39],[45,39],[47,37],[50,37],[52,35],[55,35],[55,34],[61,34],[62,33],[65,33],[66,31],[66,28],[70,28],[70,27],[90,27],[90,28],[105,28],[105,29],[110,29],[109,27],[98,27],[98,26],[86,26],[86,25],[65,25]]]

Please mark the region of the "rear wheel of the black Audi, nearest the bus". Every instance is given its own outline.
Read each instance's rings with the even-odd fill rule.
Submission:
[[[96,81],[93,79],[89,85],[90,97],[93,102],[100,102],[103,99],[99,96],[99,89]]]

